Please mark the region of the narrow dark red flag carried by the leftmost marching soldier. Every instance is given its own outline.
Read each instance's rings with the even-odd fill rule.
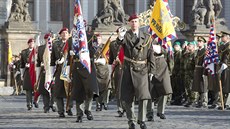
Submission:
[[[35,56],[36,56],[36,49],[33,48],[29,55],[29,64],[30,64],[29,73],[30,73],[30,80],[33,89],[34,89],[34,84],[36,82]]]

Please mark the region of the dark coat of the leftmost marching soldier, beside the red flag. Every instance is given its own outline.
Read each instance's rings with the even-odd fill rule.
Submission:
[[[31,51],[29,48],[22,50],[21,52],[21,68],[25,68],[25,72],[21,73],[23,74],[23,89],[24,90],[33,90],[31,79],[30,79],[30,73],[29,68],[26,68],[26,64],[29,63],[29,56]]]

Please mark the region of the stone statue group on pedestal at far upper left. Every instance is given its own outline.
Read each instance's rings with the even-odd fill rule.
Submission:
[[[26,0],[13,0],[8,21],[29,22],[29,4]]]

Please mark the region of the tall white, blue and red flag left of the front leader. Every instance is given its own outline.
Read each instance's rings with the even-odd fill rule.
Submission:
[[[75,55],[79,56],[82,65],[91,73],[90,55],[87,43],[85,23],[81,10],[80,0],[75,0],[74,28],[72,31],[72,48]]]

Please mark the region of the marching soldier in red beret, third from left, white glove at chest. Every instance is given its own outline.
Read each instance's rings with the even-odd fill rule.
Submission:
[[[54,86],[54,97],[57,101],[57,109],[58,109],[58,114],[59,117],[65,117],[64,114],[64,98],[66,97],[66,92],[65,92],[65,87],[64,87],[64,81],[60,79],[60,74],[62,70],[62,65],[64,62],[64,57],[63,57],[63,49],[65,46],[66,41],[69,38],[69,32],[68,28],[62,28],[59,32],[61,39],[54,42],[52,45],[52,53],[51,53],[51,71],[52,73],[55,74],[53,75],[55,77],[55,86]],[[56,71],[54,73],[54,69],[56,66]],[[69,116],[72,116],[73,113],[71,111],[72,108],[72,101],[70,101],[70,109],[66,111],[66,113]]]

